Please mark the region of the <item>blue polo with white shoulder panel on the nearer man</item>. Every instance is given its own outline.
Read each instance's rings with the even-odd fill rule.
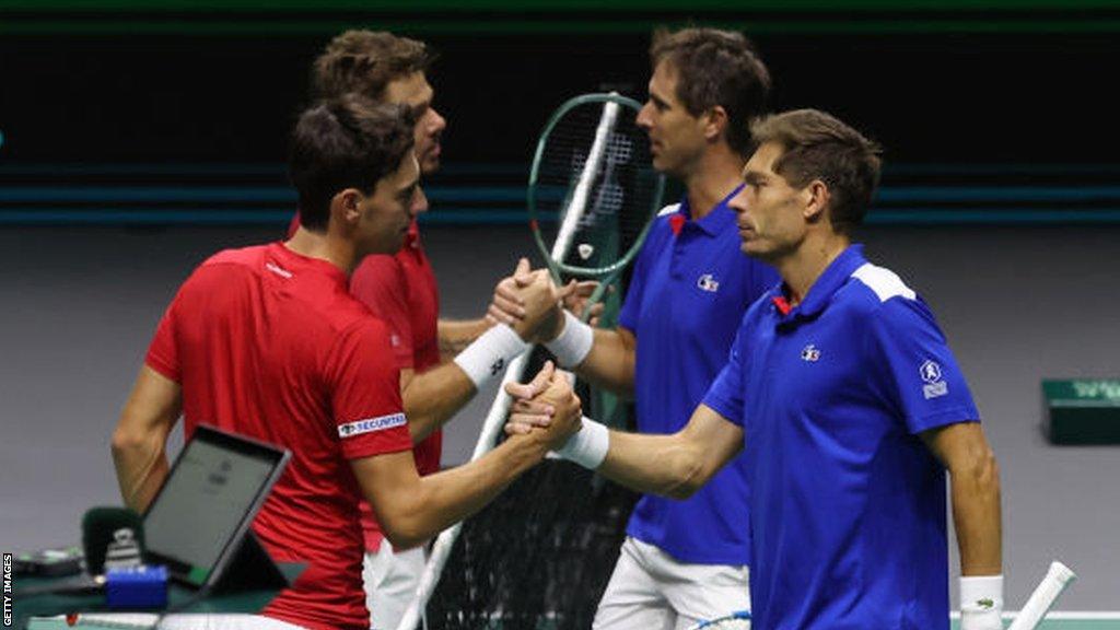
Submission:
[[[925,303],[860,245],[743,319],[704,404],[744,427],[756,630],[946,630],[945,473],[917,434],[980,417]]]

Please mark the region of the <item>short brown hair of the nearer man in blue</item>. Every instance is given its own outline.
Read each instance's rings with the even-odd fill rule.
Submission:
[[[768,115],[756,121],[750,131],[759,145],[774,142],[782,147],[773,168],[790,185],[803,188],[813,179],[824,182],[837,232],[848,233],[864,221],[879,186],[879,145],[819,110]]]

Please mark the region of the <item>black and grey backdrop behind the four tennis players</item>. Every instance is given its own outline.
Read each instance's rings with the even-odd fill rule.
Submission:
[[[894,214],[861,238],[931,303],[972,383],[1004,473],[1008,608],[1058,557],[1082,575],[1060,608],[1114,610],[1120,457],[1039,430],[1042,378],[1120,376],[1114,4],[0,0],[0,548],[69,544],[82,511],[119,500],[109,435],[151,331],[207,254],[282,233],[287,133],[330,37],[388,28],[441,54],[424,234],[444,312],[474,317],[532,245],[440,186],[523,187],[561,101],[603,83],[643,99],[652,27],[697,22],[755,40],[776,109],[829,110],[886,146]],[[151,185],[175,195],[121,193]],[[176,201],[249,186],[267,207]],[[199,205],[218,213],[170,213]],[[217,221],[249,225],[190,225]],[[449,425],[445,463],[492,397]]]

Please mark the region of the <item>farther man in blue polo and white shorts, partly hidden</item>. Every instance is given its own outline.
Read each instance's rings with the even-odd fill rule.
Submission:
[[[672,434],[701,401],[747,307],[777,274],[739,252],[735,212],[750,155],[749,122],[769,89],[766,67],[737,33],[661,33],[650,99],[637,123],[654,166],[684,183],[635,263],[614,330],[568,315],[541,341],[561,365],[633,396],[642,433]],[[502,313],[498,313],[501,316]],[[731,462],[685,501],[647,494],[626,528],[595,630],[672,630],[749,608],[746,463]]]

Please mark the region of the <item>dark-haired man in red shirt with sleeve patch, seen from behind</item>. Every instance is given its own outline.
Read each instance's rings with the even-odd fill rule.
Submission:
[[[573,430],[562,420],[454,471],[419,476],[389,331],[348,291],[370,253],[396,251],[427,201],[401,108],[348,96],[319,104],[292,137],[305,224],[287,242],[222,251],[168,307],[113,434],[125,503],[142,511],[167,478],[181,413],[292,452],[253,522],[273,558],[307,563],[263,618],[232,628],[368,628],[357,503],[416,545],[480,509]],[[530,309],[551,308],[554,294]],[[548,373],[550,368],[545,368]]]

